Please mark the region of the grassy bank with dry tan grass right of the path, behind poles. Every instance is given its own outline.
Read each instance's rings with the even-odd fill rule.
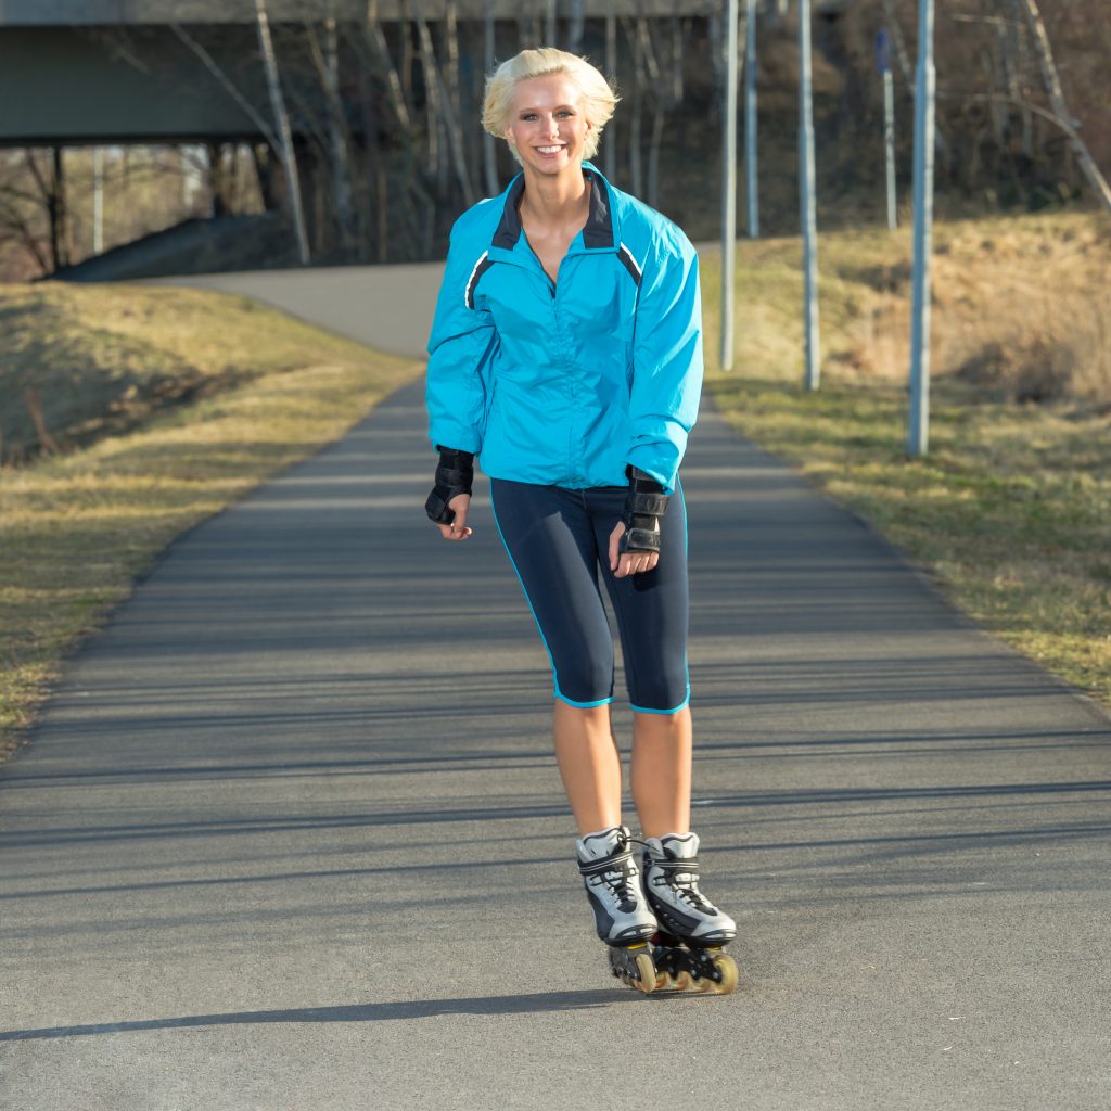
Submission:
[[[822,380],[801,388],[801,247],[739,244],[727,417],[852,508],[983,627],[1111,704],[1111,221],[934,231],[930,450],[905,456],[910,236],[821,238]],[[718,359],[720,258],[704,268]]]

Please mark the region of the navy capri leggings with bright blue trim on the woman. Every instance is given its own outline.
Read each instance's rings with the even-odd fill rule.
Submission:
[[[687,705],[687,509],[675,488],[660,521],[660,562],[615,579],[609,543],[628,487],[565,490],[490,480],[494,520],[552,661],[556,697],[577,707],[613,700],[613,638],[601,574],[621,635],[634,710],[675,713]]]

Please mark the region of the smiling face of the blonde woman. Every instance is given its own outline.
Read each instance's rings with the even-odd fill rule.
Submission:
[[[567,73],[548,73],[519,81],[506,138],[526,167],[557,174],[579,166],[591,124],[583,97]]]

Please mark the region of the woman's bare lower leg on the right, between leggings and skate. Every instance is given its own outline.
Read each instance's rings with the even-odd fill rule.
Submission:
[[[632,797],[644,837],[691,828],[690,708],[678,713],[633,712]]]

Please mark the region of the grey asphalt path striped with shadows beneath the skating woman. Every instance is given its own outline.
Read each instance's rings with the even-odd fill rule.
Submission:
[[[417,383],[70,661],[0,769],[0,1107],[1107,1105],[1102,710],[705,411],[694,813],[742,980],[644,998],[483,486],[444,544],[430,458]]]

